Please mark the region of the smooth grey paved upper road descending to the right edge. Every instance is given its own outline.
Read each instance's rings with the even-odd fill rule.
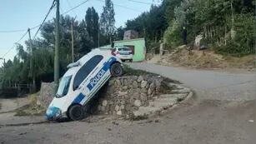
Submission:
[[[129,63],[129,66],[178,80],[203,99],[246,101],[256,97],[255,73],[188,70],[151,63]]]

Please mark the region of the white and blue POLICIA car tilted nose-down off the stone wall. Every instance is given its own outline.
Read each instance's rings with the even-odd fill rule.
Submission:
[[[108,79],[123,75],[122,62],[111,52],[94,49],[78,62],[68,65],[68,71],[59,83],[58,92],[46,112],[48,120],[68,117],[83,119],[84,106]]]

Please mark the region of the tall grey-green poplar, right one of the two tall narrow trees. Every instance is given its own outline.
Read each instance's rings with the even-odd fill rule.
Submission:
[[[100,17],[100,27],[103,35],[107,36],[109,42],[115,32],[115,12],[113,9],[113,2],[111,0],[105,0],[105,6],[103,6],[103,13]]]

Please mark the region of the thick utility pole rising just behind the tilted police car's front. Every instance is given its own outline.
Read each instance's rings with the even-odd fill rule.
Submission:
[[[56,35],[55,35],[55,57],[54,57],[54,83],[58,87],[59,79],[59,0],[56,2]],[[56,89],[57,90],[57,89]]]

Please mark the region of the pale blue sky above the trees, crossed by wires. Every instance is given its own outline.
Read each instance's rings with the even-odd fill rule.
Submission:
[[[60,0],[60,13],[67,12],[72,7],[78,6],[85,0]],[[138,17],[142,12],[149,11],[151,4],[158,4],[158,0],[112,0],[115,10],[116,27],[124,26],[128,19]],[[23,34],[27,31],[28,27],[38,26],[43,22],[49,7],[53,0],[0,0],[0,58],[13,47]],[[94,7],[100,15],[103,11],[104,0],[88,0],[80,7],[77,7],[68,15],[82,20],[85,17],[88,7]],[[55,17],[56,8],[48,16],[48,20]],[[23,30],[23,32],[3,32],[3,31],[16,31]],[[31,31],[31,35],[35,34],[38,28]],[[40,33],[38,34],[40,36]],[[20,41],[28,40],[28,35]],[[4,57],[13,60],[16,55],[15,48]],[[0,65],[2,65],[0,59]]]

